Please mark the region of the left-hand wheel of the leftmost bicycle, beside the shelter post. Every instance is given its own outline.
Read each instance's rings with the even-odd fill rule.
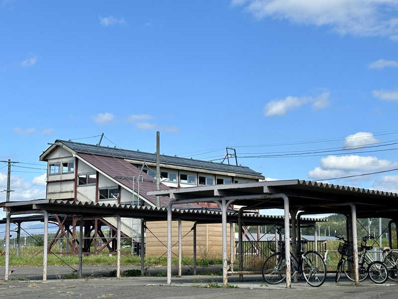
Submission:
[[[286,261],[280,253],[270,256],[263,265],[263,279],[270,285],[277,285],[286,278]]]

